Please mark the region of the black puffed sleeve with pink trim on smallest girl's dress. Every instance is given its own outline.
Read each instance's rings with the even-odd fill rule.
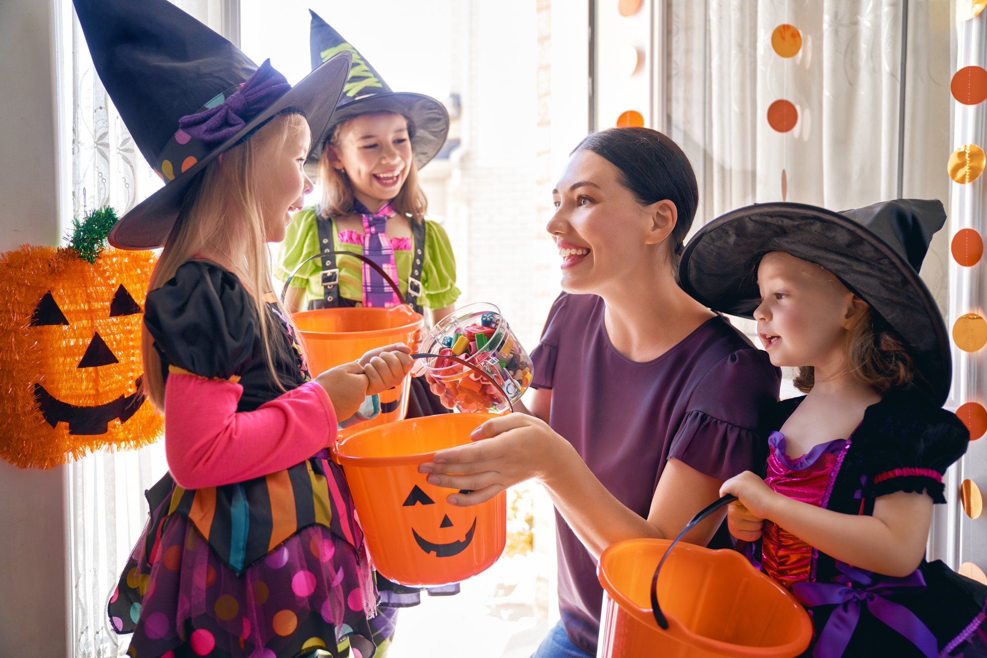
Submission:
[[[855,432],[857,470],[867,477],[865,495],[928,491],[945,503],[943,475],[962,457],[969,432],[954,413],[914,395],[888,393]]]

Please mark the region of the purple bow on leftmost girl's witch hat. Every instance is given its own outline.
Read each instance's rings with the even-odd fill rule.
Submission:
[[[207,144],[227,140],[247,125],[244,117],[266,110],[289,89],[287,79],[271,68],[270,60],[266,59],[239,92],[213,108],[183,116],[179,126]]]

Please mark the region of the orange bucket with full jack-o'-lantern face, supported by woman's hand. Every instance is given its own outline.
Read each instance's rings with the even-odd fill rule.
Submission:
[[[507,537],[506,494],[473,507],[446,502],[418,465],[470,443],[492,413],[443,413],[357,432],[333,447],[346,472],[374,568],[415,587],[459,582],[490,567]]]

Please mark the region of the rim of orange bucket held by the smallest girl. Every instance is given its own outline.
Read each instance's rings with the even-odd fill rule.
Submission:
[[[606,569],[603,566],[604,562],[612,558],[615,552],[617,552],[621,548],[626,548],[633,544],[652,545],[652,546],[658,545],[667,548],[668,545],[671,544],[671,540],[657,540],[657,539],[623,540],[621,542],[611,544],[607,548],[604,548],[603,552],[600,553],[599,568],[597,575],[597,578],[600,581],[600,585],[602,585],[603,589],[607,591],[607,595],[614,601],[614,603],[616,603],[618,606],[620,606],[625,611],[627,611],[627,613],[631,615],[631,617],[633,617],[635,620],[642,622],[647,626],[653,626],[657,628],[659,632],[679,634],[683,636],[682,639],[691,642],[692,644],[698,646],[701,649],[707,651],[719,652],[722,655],[726,655],[726,656],[737,656],[743,658],[747,656],[774,657],[774,656],[778,656],[779,653],[781,652],[788,653],[789,651],[793,652],[793,655],[795,655],[795,652],[797,651],[798,647],[802,645],[803,642],[802,635],[808,635],[809,637],[811,637],[812,623],[808,621],[807,616],[803,616],[800,619],[799,625],[801,625],[802,627],[797,637],[792,641],[787,642],[786,644],[776,644],[774,646],[765,646],[765,647],[733,644],[731,642],[724,642],[722,640],[713,639],[712,637],[706,637],[705,635],[700,635],[696,632],[693,632],[684,623],[682,623],[682,621],[679,621],[676,615],[674,615],[673,613],[669,613],[664,609],[662,609],[661,612],[664,614],[665,619],[668,620],[668,629],[662,630],[660,627],[658,627],[657,623],[654,621],[654,616],[651,613],[651,609],[642,608],[641,606],[633,602],[630,599],[630,597],[628,597],[626,594],[620,591],[617,585],[610,580],[610,577],[607,575]],[[675,548],[672,548],[672,552],[675,552],[677,550],[698,550],[699,552],[707,551],[711,553],[725,551],[727,553],[735,555],[736,558],[739,559],[740,562],[743,564],[744,568],[750,569],[754,573],[764,576],[764,574],[758,571],[757,569],[755,569],[753,565],[749,561],[747,561],[747,559],[743,555],[741,555],[735,550],[730,550],[729,548],[713,549],[713,548],[700,547],[693,544],[678,544],[676,545]],[[733,559],[733,557],[729,557],[729,559]],[[767,576],[764,577],[767,578]],[[771,580],[770,582],[779,590],[781,594],[785,595],[786,599],[789,599],[794,605],[796,605],[798,608],[801,608],[801,605],[797,602],[796,598],[792,596],[791,593],[789,593],[787,590],[785,590],[785,588],[783,588],[775,581]],[[740,651],[738,651],[738,649],[740,649]]]

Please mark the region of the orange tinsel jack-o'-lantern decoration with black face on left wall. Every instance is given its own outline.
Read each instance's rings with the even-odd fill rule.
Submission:
[[[107,446],[138,448],[163,419],[140,393],[152,252],[25,245],[0,256],[0,457],[50,469]]]

